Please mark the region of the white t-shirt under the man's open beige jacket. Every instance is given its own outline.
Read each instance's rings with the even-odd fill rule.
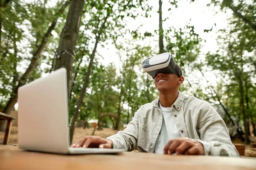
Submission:
[[[163,108],[160,102],[159,107],[163,115],[163,124],[157,137],[157,141],[154,147],[154,153],[163,154],[163,149],[166,144],[170,140],[180,137],[180,133],[173,119],[172,107]]]

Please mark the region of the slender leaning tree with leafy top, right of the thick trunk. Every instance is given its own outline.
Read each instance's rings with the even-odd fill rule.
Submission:
[[[122,24],[122,19],[124,15],[123,12],[127,12],[131,8],[137,7],[136,5],[142,4],[142,1],[139,2],[139,4],[134,4],[132,0],[124,1],[124,0],[112,0],[112,1],[104,1],[105,3],[96,3],[92,2],[91,5],[96,8],[96,14],[93,14],[92,18],[95,19],[93,22],[98,21],[96,24],[96,30],[93,31],[93,34],[96,36],[96,42],[94,44],[94,48],[92,51],[92,54],[90,55],[90,63],[87,68],[87,74],[84,79],[84,85],[81,89],[79,99],[76,102],[76,110],[72,119],[71,127],[70,127],[70,139],[72,141],[73,133],[75,130],[76,121],[79,118],[79,112],[81,111],[80,106],[84,98],[84,92],[86,91],[86,88],[89,84],[90,74],[91,70],[93,68],[93,59],[96,54],[96,48],[99,43],[99,40],[102,41],[107,40],[109,36],[113,38],[113,41],[117,39],[122,32],[119,31],[119,34],[113,31],[113,29],[116,28],[124,28],[124,25]],[[114,4],[118,4],[117,8],[114,10]],[[128,13],[127,16],[135,17],[132,13]],[[108,18],[111,17],[112,20],[107,22]],[[121,20],[120,20],[121,19]],[[88,25],[90,26],[90,24]],[[104,33],[104,34],[103,34]],[[80,111],[79,111],[80,110]],[[117,125],[119,125],[119,122],[117,122]]]

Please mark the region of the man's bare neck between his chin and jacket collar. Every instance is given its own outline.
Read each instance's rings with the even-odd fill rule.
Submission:
[[[172,107],[178,97],[179,91],[159,92],[159,100],[164,108]]]

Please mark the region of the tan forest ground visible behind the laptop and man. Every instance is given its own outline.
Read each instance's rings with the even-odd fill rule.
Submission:
[[[81,139],[83,136],[92,135],[93,129],[94,128],[83,129],[82,127],[76,127],[74,138],[73,138],[73,143],[78,142],[79,139]],[[94,136],[101,136],[103,138],[106,138],[108,136],[116,134],[117,132],[118,132],[118,130],[113,130],[111,128],[103,128],[103,130],[96,130],[95,133],[94,133]],[[3,138],[4,138],[4,133],[0,132],[0,144],[3,143]],[[256,142],[256,137],[251,136],[250,140],[255,143]],[[239,139],[235,139],[232,142],[234,144],[244,144]],[[17,141],[17,127],[12,127],[12,129],[11,129],[9,144],[18,144],[18,141]],[[256,148],[250,148],[250,145],[246,145],[245,156],[247,156],[247,157],[256,157]]]

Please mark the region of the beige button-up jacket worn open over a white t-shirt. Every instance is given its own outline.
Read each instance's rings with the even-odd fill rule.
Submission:
[[[172,105],[172,115],[180,136],[201,142],[205,155],[239,156],[223,119],[208,102],[183,96],[179,91]],[[125,130],[107,139],[113,142],[113,148],[132,151],[137,147],[139,152],[153,153],[162,122],[158,97],[142,105]]]

